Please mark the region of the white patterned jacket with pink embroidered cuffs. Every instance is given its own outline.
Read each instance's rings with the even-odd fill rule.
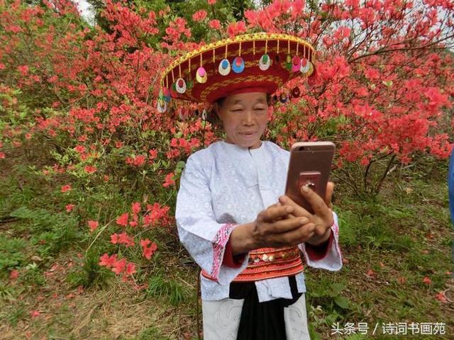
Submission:
[[[289,152],[267,141],[257,149],[215,142],[187,159],[175,217],[182,244],[196,263],[217,280],[201,276],[202,299],[228,297],[231,281],[248,265],[248,261],[243,261],[240,268],[223,265],[228,238],[236,225],[252,222],[258,212],[277,203],[284,194],[288,164]],[[309,266],[329,271],[342,267],[338,218],[336,213],[333,215],[333,244],[323,259],[311,261],[305,244],[299,245]],[[255,285],[260,302],[292,297],[286,277],[259,280]],[[299,293],[306,291],[304,273],[297,274],[297,285]]]

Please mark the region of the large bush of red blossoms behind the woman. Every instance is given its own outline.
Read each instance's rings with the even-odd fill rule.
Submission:
[[[196,105],[157,111],[160,72],[214,38],[265,30],[316,47],[315,80],[284,89],[303,91],[270,111],[266,137],[333,140],[336,176],[357,193],[378,193],[397,162],[450,152],[452,1],[279,0],[241,20],[216,1],[182,18],[108,0],[94,27],[69,0],[43,5],[0,0],[0,162],[44,150],[40,176],[83,220],[99,265],[123,280],[140,269],[121,256],[140,249],[146,266],[157,251],[150,231],[173,223],[182,161],[216,140]]]

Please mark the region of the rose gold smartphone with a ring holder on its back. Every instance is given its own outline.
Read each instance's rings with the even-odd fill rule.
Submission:
[[[314,210],[301,195],[301,186],[309,185],[325,200],[335,149],[333,142],[297,142],[290,149],[285,195],[311,213]]]

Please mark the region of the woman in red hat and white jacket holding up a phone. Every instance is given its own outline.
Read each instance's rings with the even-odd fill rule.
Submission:
[[[228,48],[238,55],[233,65]],[[191,64],[211,63],[211,56],[216,62],[216,53],[223,57],[218,69],[200,66],[188,93]],[[328,207],[332,183],[325,199],[301,188],[315,212],[304,210],[284,196],[289,152],[261,140],[270,94],[297,75],[311,75],[313,62],[314,50],[304,40],[259,33],[206,45],[163,77],[187,67],[187,80],[180,76],[184,84],[175,85],[179,98],[214,103],[226,132],[225,140],[187,159],[175,214],[180,240],[202,269],[206,340],[309,339],[300,251],[309,266],[342,266],[337,217]]]

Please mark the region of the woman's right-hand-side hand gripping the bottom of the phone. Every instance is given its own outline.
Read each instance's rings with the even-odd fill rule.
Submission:
[[[331,204],[333,189],[334,183],[328,182],[328,185],[326,186],[326,198],[323,200],[323,198],[315,191],[312,191],[309,186],[301,187],[301,195],[311,205],[314,214],[311,214],[297,203],[294,203],[288,196],[279,197],[279,203],[282,205],[290,205],[294,208],[294,211],[287,216],[288,218],[306,217],[309,222],[307,222],[304,227],[314,227],[314,235],[306,240],[309,244],[322,244],[331,236],[331,225],[334,223],[333,211],[331,210],[333,206]]]

